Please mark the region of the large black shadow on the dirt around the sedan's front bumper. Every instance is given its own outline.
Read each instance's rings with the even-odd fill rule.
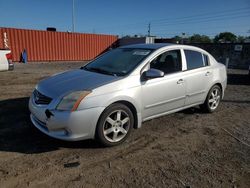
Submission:
[[[0,151],[43,153],[59,148],[99,148],[94,140],[66,142],[38,131],[29,119],[28,97],[0,101]]]

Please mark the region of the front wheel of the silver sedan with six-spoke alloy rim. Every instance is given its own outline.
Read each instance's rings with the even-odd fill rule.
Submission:
[[[96,137],[106,147],[124,142],[134,125],[134,116],[124,104],[114,103],[107,107],[99,118]]]

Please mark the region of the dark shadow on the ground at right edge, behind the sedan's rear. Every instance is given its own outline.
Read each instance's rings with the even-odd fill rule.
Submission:
[[[250,76],[248,74],[231,74],[227,75],[229,85],[250,85]]]

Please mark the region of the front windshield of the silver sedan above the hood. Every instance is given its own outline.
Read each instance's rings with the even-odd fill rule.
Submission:
[[[151,52],[150,49],[117,48],[103,54],[83,68],[101,74],[125,76]]]

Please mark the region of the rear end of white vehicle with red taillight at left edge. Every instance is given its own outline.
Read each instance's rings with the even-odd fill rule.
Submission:
[[[12,54],[10,50],[0,50],[0,71],[13,70]]]

